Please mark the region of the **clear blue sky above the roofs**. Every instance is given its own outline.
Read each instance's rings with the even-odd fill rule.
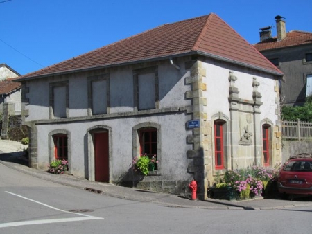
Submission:
[[[259,28],[286,18],[312,32],[311,0],[0,0],[0,64],[21,75],[166,23],[211,12],[250,44]]]

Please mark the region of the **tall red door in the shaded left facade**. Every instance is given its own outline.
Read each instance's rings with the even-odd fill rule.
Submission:
[[[94,168],[95,181],[109,181],[108,132],[94,133]]]

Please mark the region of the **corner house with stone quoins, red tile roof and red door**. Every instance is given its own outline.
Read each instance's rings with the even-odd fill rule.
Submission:
[[[23,75],[30,161],[90,181],[207,197],[232,168],[281,161],[283,73],[215,14],[164,24]],[[156,154],[141,177],[132,159]]]

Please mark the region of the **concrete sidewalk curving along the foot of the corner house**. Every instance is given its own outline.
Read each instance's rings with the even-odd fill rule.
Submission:
[[[70,186],[88,192],[95,192],[98,195],[108,195],[120,199],[132,201],[152,202],[163,206],[182,207],[182,208],[205,208],[222,210],[280,210],[295,207],[312,206],[311,199],[297,198],[290,200],[280,199],[250,199],[245,201],[226,201],[207,199],[205,201],[191,201],[178,195],[171,195],[161,192],[152,192],[148,190],[139,190],[137,188],[126,188],[115,186],[110,183],[90,182],[85,178],[73,177],[67,174],[50,174],[48,172],[28,168],[27,163],[22,163],[22,150],[24,145],[14,141],[0,140],[0,163],[19,172],[59,183],[64,186]]]

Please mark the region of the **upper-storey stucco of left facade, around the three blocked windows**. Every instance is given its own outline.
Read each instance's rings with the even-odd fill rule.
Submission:
[[[184,61],[180,66],[184,67]],[[98,73],[101,75],[103,73]],[[110,72],[110,114],[125,113],[134,110],[134,89],[132,67],[112,69]],[[29,109],[31,113],[26,121],[49,119],[49,83],[69,81],[69,117],[87,116],[88,91],[87,78],[94,73],[78,73],[75,76],[67,75],[65,78],[55,77],[43,80],[26,82],[29,87]],[[185,100],[184,93],[191,86],[184,85],[184,78],[189,76],[189,71],[177,70],[168,62],[159,64],[159,108],[184,107],[191,105],[190,100]]]

